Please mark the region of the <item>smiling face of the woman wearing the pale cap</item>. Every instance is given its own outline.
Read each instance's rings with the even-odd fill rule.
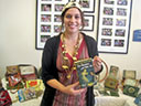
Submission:
[[[82,15],[77,8],[70,8],[64,15],[65,30],[69,33],[79,31],[82,26]]]

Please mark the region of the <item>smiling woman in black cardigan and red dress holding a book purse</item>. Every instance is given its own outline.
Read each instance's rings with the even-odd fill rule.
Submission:
[[[94,106],[93,86],[80,88],[74,62],[93,57],[95,73],[101,71],[96,41],[82,33],[84,14],[77,2],[62,12],[64,32],[46,41],[42,59],[45,92],[41,106]]]

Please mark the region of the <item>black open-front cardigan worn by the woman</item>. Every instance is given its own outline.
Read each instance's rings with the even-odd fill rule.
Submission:
[[[86,34],[84,34],[84,39],[88,47],[89,57],[94,57],[98,55],[97,42],[91,36],[88,36]],[[46,44],[44,46],[43,57],[42,57],[42,80],[43,83],[45,84],[45,91],[41,106],[52,106],[55,96],[56,89],[48,86],[46,82],[53,78],[58,80],[56,59],[57,59],[59,40],[61,40],[61,34],[57,36],[53,36],[46,41]],[[86,102],[87,102],[87,106],[94,106],[95,104],[93,87],[88,87],[86,94]]]

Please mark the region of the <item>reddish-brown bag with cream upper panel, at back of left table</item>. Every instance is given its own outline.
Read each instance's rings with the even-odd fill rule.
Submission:
[[[35,66],[29,64],[20,64],[19,68],[23,81],[37,78],[37,70]]]

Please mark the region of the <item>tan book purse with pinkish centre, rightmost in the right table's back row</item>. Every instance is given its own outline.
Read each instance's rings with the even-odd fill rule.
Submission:
[[[137,78],[137,72],[135,71],[131,71],[131,70],[123,70],[123,78],[132,78],[135,80]]]

